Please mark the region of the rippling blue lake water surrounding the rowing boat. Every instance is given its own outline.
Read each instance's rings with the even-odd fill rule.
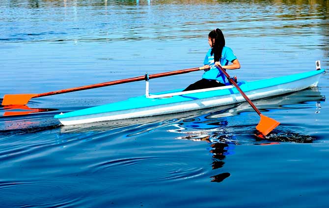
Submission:
[[[0,28],[1,98],[202,66],[215,28],[241,63],[229,71],[238,80],[315,70],[316,60],[329,68],[328,0],[9,0]],[[150,92],[201,75],[151,80]],[[27,115],[1,107],[1,207],[328,206],[328,73],[318,88],[255,101],[281,122],[263,140],[247,103],[92,125],[54,119],[144,93],[135,82],[31,99],[40,112]]]

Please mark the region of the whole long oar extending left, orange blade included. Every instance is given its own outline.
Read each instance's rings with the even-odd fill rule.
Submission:
[[[189,73],[189,72],[198,71],[198,70],[204,70],[204,67],[196,67],[196,68],[182,69],[182,70],[177,70],[177,71],[169,71],[169,72],[164,72],[164,73],[159,73],[159,74],[152,74],[152,75],[149,75],[148,77],[149,77],[149,79],[154,79],[154,78],[166,77],[166,76],[171,76],[171,75],[176,75],[176,74]],[[27,102],[31,98],[43,97],[43,96],[61,94],[61,93],[67,93],[67,92],[73,92],[73,91],[80,91],[80,90],[84,90],[84,89],[101,88],[101,87],[106,87],[106,86],[110,86],[110,85],[118,85],[118,84],[136,82],[136,81],[142,81],[142,80],[145,80],[145,76],[104,82],[104,83],[87,85],[87,86],[82,86],[82,87],[77,87],[77,88],[61,89],[61,90],[45,92],[45,93],[41,93],[41,94],[5,94],[3,96],[1,105],[3,105],[3,106],[26,105]]]

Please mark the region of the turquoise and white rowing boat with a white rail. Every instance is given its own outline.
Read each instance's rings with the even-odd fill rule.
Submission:
[[[323,73],[325,70],[320,69],[252,82],[240,81],[238,86],[247,94],[249,99],[256,100],[316,87]],[[173,114],[244,101],[245,98],[232,85],[192,91],[176,89],[149,94],[148,80],[146,80],[146,93],[143,96],[61,113],[55,115],[55,119],[59,119],[63,125],[73,125]]]

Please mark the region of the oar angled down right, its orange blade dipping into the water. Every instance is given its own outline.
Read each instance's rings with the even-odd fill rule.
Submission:
[[[220,66],[218,66],[221,72],[227,77],[228,81],[234,85],[236,89],[242,94],[242,96],[247,100],[247,102],[250,104],[250,106],[257,112],[257,114],[260,116],[260,121],[258,125],[256,126],[256,129],[262,133],[263,135],[268,135],[276,126],[280,124],[280,122],[271,119],[269,117],[264,116],[260,113],[260,111],[256,108],[256,106],[251,102],[251,100],[247,97],[245,92],[242,91],[242,89],[236,84],[236,82],[227,74],[227,72]]]

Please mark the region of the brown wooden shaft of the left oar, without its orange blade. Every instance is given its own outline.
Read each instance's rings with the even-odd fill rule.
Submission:
[[[149,79],[166,77],[166,76],[177,75],[177,74],[185,74],[185,73],[189,73],[192,71],[198,71],[198,70],[203,70],[203,69],[204,69],[203,67],[196,67],[196,68],[182,69],[182,70],[177,70],[177,71],[169,71],[169,72],[164,72],[164,73],[159,73],[159,74],[151,74],[151,75],[149,75]],[[139,76],[139,77],[133,77],[133,78],[128,78],[128,79],[87,85],[87,86],[82,86],[82,87],[45,92],[45,93],[36,94],[32,98],[43,97],[43,96],[54,95],[54,94],[61,94],[61,93],[66,93],[66,92],[80,91],[80,90],[84,90],[84,89],[101,88],[101,87],[106,87],[106,86],[111,86],[111,85],[118,85],[118,84],[124,84],[124,83],[129,83],[129,82],[137,82],[137,81],[142,81],[142,80],[145,80],[145,76]]]

